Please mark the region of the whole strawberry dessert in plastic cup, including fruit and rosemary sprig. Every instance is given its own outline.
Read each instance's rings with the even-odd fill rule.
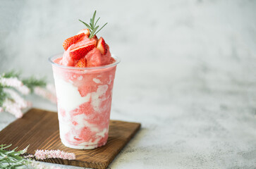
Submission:
[[[61,142],[73,149],[106,144],[118,58],[96,36],[96,11],[90,24],[63,42],[64,53],[49,58],[54,72]],[[105,24],[106,25],[106,24]],[[104,25],[104,26],[105,26]],[[104,27],[103,26],[103,27]]]

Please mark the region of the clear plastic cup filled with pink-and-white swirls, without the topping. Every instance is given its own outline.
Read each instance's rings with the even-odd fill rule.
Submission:
[[[109,134],[114,63],[99,67],[75,68],[54,63],[52,56],[61,142],[73,149],[104,146]]]

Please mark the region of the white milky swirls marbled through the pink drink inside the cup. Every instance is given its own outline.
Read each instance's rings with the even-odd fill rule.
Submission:
[[[73,85],[73,82],[66,82],[65,80],[61,79],[58,75],[54,75],[55,80],[55,86],[56,86],[56,95],[58,98],[58,107],[63,109],[65,111],[66,115],[63,117],[61,113],[59,113],[59,127],[60,127],[60,137],[61,142],[65,146],[74,148],[74,149],[94,149],[98,144],[105,144],[105,143],[99,143],[99,140],[102,139],[102,137],[105,136],[109,132],[108,128],[104,128],[103,130],[99,130],[97,125],[92,125],[90,123],[87,123],[87,116],[85,114],[78,114],[73,116],[73,121],[75,121],[77,124],[73,125],[71,121],[70,111],[73,111],[75,108],[78,108],[81,104],[84,104],[87,101],[90,101],[90,98],[92,99],[92,108],[97,111],[98,113],[101,113],[104,111],[103,109],[108,108],[109,106],[104,106],[104,108],[100,108],[101,102],[106,100],[107,97],[103,96],[106,94],[107,89],[109,88],[108,84],[99,85],[96,92],[88,93],[86,96],[81,96],[78,92],[78,87],[75,87]],[[101,83],[100,80],[94,79],[95,83]],[[94,142],[92,140],[89,140],[89,142],[83,142],[81,144],[73,145],[66,141],[65,135],[69,132],[69,140],[71,142],[75,142],[74,138],[76,135],[71,132],[71,129],[73,130],[83,130],[83,127],[89,127],[92,132],[97,132],[96,136],[97,139],[95,139]]]

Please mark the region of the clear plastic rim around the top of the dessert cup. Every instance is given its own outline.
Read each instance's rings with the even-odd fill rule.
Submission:
[[[51,65],[56,65],[59,68],[66,68],[66,69],[72,69],[72,70],[93,70],[93,69],[102,69],[102,68],[111,68],[114,65],[117,65],[118,63],[121,62],[121,59],[119,57],[116,57],[115,55],[111,55],[112,58],[114,58],[116,61],[114,63],[111,63],[109,65],[101,65],[101,66],[95,66],[95,67],[86,67],[86,68],[76,68],[73,66],[68,66],[68,65],[60,65],[58,63],[54,63],[54,60],[56,58],[60,58],[63,56],[63,53],[55,54],[53,56],[50,56],[48,58],[48,61],[51,63]]]

